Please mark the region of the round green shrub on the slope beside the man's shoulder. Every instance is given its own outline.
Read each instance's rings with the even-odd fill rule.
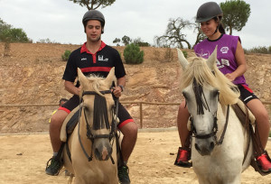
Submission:
[[[139,46],[131,43],[126,45],[123,56],[126,64],[140,64],[144,60],[144,51],[140,51]]]

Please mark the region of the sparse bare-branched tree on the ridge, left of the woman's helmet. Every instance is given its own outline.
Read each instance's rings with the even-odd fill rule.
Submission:
[[[184,21],[181,17],[178,17],[177,19],[170,19],[164,35],[160,37],[156,36],[154,40],[156,41],[158,46],[177,45],[177,47],[181,49],[183,48],[182,42],[185,42],[188,49],[191,49],[191,44],[189,41],[186,40],[186,34],[183,34],[182,31],[185,28],[191,29],[192,26],[193,23],[190,23],[189,21]]]

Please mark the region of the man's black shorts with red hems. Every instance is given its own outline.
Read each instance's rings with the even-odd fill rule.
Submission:
[[[70,114],[70,112],[77,106],[79,106],[79,96],[74,95],[73,97],[70,97],[70,99],[65,104],[63,104],[59,110],[66,111]],[[117,117],[119,119],[119,124],[117,124],[118,128],[123,127],[127,123],[134,122],[132,116],[128,113],[126,108],[122,106],[121,103],[118,103]]]

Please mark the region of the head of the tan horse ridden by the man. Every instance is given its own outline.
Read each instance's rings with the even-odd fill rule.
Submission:
[[[97,160],[107,161],[117,129],[116,106],[110,90],[112,82],[116,82],[115,69],[110,70],[107,78],[85,77],[80,69],[78,76],[81,87],[79,134],[82,140],[87,135],[91,141],[91,159],[94,152]]]

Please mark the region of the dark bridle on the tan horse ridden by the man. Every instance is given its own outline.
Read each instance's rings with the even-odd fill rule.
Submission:
[[[104,90],[104,91],[99,91],[99,93],[105,95],[105,94],[111,94],[111,90]],[[85,95],[91,95],[91,96],[95,96],[95,99],[94,99],[94,111],[97,110],[97,111],[103,111],[102,115],[103,115],[103,119],[105,120],[105,126],[107,129],[110,128],[110,133],[107,133],[107,134],[93,134],[91,132],[91,130],[93,129],[93,127],[96,125],[96,129],[98,129],[98,125],[95,124],[97,121],[102,121],[101,119],[95,119],[95,118],[98,118],[98,117],[95,117],[95,114],[93,115],[93,126],[91,127],[89,125],[89,122],[88,122],[88,118],[87,118],[87,115],[86,115],[86,109],[83,108],[81,106],[82,102],[83,102],[83,97]],[[80,116],[81,116],[81,113],[82,111],[84,111],[84,118],[85,118],[85,121],[86,121],[86,125],[87,125],[87,137],[88,139],[91,141],[92,145],[95,141],[95,139],[100,139],[100,138],[106,138],[109,140],[109,143],[111,143],[111,145],[113,145],[114,143],[114,138],[116,136],[116,132],[117,132],[117,111],[118,111],[118,98],[114,98],[115,100],[115,106],[112,108],[112,124],[111,124],[111,127],[109,127],[109,121],[108,121],[108,115],[107,115],[107,101],[105,99],[105,97],[101,97],[100,95],[98,95],[98,93],[96,91],[83,91],[82,93],[82,97],[80,97],[80,102],[79,102],[79,125],[80,125]],[[104,103],[103,107],[99,108],[99,109],[96,109],[95,108],[95,103]],[[101,125],[102,126],[102,125]],[[100,128],[100,127],[99,127]],[[80,134],[79,134],[79,128],[78,128],[78,136],[79,136],[79,143],[80,143],[80,146],[84,152],[84,154],[86,155],[86,157],[88,158],[89,161],[92,161],[92,158],[93,158],[93,153],[92,153],[92,150],[91,149],[91,153],[90,153],[90,156],[89,154],[86,152],[86,149],[84,148],[82,142],[81,142],[81,138],[80,138]],[[115,161],[113,161],[113,158],[112,156],[110,156],[110,159],[112,161],[112,163],[114,164]]]

